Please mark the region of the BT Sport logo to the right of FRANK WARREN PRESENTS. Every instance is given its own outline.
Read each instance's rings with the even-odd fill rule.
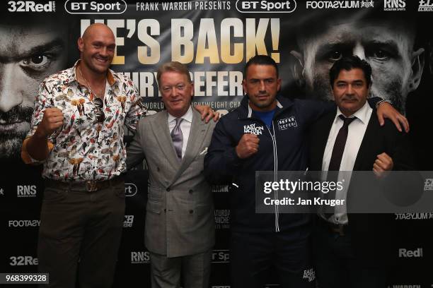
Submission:
[[[241,13],[291,13],[296,10],[296,1],[238,0],[236,9]]]

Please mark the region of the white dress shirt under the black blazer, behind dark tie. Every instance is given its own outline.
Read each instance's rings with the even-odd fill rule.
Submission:
[[[345,150],[342,155],[340,171],[352,171],[354,167],[354,162],[357,159],[359,147],[361,146],[362,139],[364,138],[364,134],[366,131],[366,127],[369,124],[371,113],[373,109],[369,106],[368,102],[365,102],[364,106],[355,112],[350,118],[356,116],[357,119],[352,121],[349,125],[347,140],[345,145]],[[331,155],[333,153],[335,138],[337,138],[338,131],[342,127],[344,121],[340,119],[340,115],[342,115],[340,108],[337,108],[337,114],[335,115],[335,119],[333,121],[333,126],[330,129],[328,141],[325,147],[325,153],[323,154],[323,162],[322,162],[322,170],[328,171],[329,162]],[[373,169],[373,167],[371,167]],[[347,174],[345,174],[347,176]],[[342,180],[342,175],[338,175],[338,181]],[[336,191],[335,198],[336,199],[346,199],[347,196],[347,187],[349,186],[350,178],[347,179],[345,177],[345,185],[341,191]],[[337,205],[335,206],[335,214],[330,217],[330,222],[334,222],[336,224],[347,224],[347,207],[346,205]]]

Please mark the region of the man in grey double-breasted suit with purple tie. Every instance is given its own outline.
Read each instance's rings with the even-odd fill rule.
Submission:
[[[127,150],[127,165],[146,159],[149,199],[145,244],[152,287],[208,287],[214,245],[212,191],[203,160],[214,121],[191,108],[194,93],[187,67],[163,64],[156,76],[166,110],[139,121]]]

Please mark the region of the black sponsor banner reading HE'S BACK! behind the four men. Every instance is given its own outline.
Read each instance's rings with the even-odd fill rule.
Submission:
[[[91,23],[114,32],[112,69],[134,80],[149,113],[163,109],[156,71],[166,61],[190,68],[195,103],[225,114],[238,107],[243,67],[255,54],[277,61],[284,97],[313,100],[330,99],[330,66],[357,54],[371,64],[371,94],[392,100],[408,117],[418,169],[433,170],[433,1],[2,1],[0,16],[0,272],[37,271],[44,187],[40,167],[21,162],[21,143],[40,81],[74,64],[76,40]],[[132,133],[125,134],[130,140]],[[144,169],[127,175],[115,287],[150,285],[146,175]],[[211,286],[230,287],[228,189],[213,190]],[[389,287],[433,287],[433,213],[395,219],[399,248]],[[277,286],[272,277],[268,286]]]

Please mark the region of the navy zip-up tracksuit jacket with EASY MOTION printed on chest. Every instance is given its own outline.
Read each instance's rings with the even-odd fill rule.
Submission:
[[[204,158],[205,176],[212,184],[230,184],[233,231],[279,232],[302,227],[309,223],[310,215],[255,213],[255,172],[305,171],[308,128],[335,104],[277,96],[277,111],[268,128],[252,116],[248,101],[246,95],[241,106],[221,117],[215,126]],[[244,133],[255,133],[260,142],[255,155],[240,159],[235,148]]]

